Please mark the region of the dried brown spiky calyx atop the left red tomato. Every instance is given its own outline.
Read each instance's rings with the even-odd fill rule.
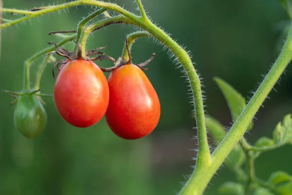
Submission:
[[[55,49],[55,51],[50,52],[47,55],[50,55],[52,53],[56,53],[57,55],[66,58],[66,59],[61,59],[61,60],[55,62],[54,66],[53,66],[53,70],[52,70],[53,78],[55,78],[55,67],[57,67],[58,70],[60,71],[59,65],[63,65],[65,63],[67,63],[68,60],[84,59],[84,60],[88,60],[88,61],[100,60],[100,62],[102,62],[103,59],[109,59],[113,63],[115,63],[115,59],[113,59],[112,57],[107,56],[103,52],[99,51],[101,49],[105,49],[106,47],[99,47],[99,48],[96,48],[96,49],[93,49],[93,50],[86,51],[85,52],[86,57],[83,58],[82,55],[81,55],[81,45],[80,45],[80,43],[76,43],[78,45],[78,53],[77,54],[75,52],[70,52],[70,51],[67,51],[66,49],[58,47],[58,45],[55,42],[48,42],[48,44],[55,45],[56,49]],[[90,58],[90,56],[94,56],[94,55],[98,55],[98,56]]]

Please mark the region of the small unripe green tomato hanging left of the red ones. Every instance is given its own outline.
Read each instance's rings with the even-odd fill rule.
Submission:
[[[14,120],[18,131],[33,139],[45,129],[47,113],[35,95],[26,94],[18,98]]]

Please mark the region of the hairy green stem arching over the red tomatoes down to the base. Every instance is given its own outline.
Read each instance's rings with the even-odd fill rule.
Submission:
[[[193,63],[190,57],[188,56],[188,53],[177,42],[171,39],[162,29],[160,29],[155,24],[153,24],[149,19],[140,18],[128,12],[127,10],[121,8],[120,6],[116,4],[97,1],[97,0],[76,0],[73,2],[69,2],[69,3],[57,5],[57,6],[45,7],[39,11],[34,11],[33,14],[30,16],[26,16],[18,20],[13,20],[11,22],[1,24],[0,28],[11,26],[13,24],[17,24],[19,22],[29,20],[31,18],[40,16],[40,15],[44,15],[44,14],[57,11],[60,9],[64,9],[64,8],[73,7],[76,5],[91,5],[91,6],[107,8],[124,15],[125,17],[122,20],[124,23],[135,24],[143,28],[144,30],[148,31],[153,37],[155,37],[160,42],[162,42],[174,54],[176,59],[178,59],[178,61],[183,65],[187,78],[190,82],[190,87],[193,92],[195,116],[196,116],[196,122],[197,122],[197,130],[198,130],[199,153],[197,156],[196,168],[192,176],[190,177],[189,181],[184,186],[182,190],[182,194],[197,194],[199,192],[198,189],[201,190],[202,192],[207,186],[208,181],[213,176],[213,174],[215,173],[215,171],[218,169],[219,166],[213,169],[215,170],[214,172],[212,171],[212,169],[211,171],[209,170],[210,164],[211,164],[211,157],[210,157],[210,150],[208,147],[206,126],[205,126],[205,115],[204,115],[203,101],[202,101],[202,95],[201,95],[201,81],[193,66]],[[106,19],[106,20],[110,20],[110,19]],[[102,22],[105,22],[105,21],[103,20]],[[98,24],[102,25],[102,22],[99,22]],[[104,24],[107,24],[107,23],[104,23]],[[83,36],[83,33],[85,33],[85,36]],[[90,31],[86,27],[83,33],[82,33],[80,42],[84,43],[83,48],[85,48],[85,42],[88,37],[87,34],[89,35]],[[82,37],[83,37],[83,40],[82,40]],[[199,186],[199,188],[197,188],[197,186]]]

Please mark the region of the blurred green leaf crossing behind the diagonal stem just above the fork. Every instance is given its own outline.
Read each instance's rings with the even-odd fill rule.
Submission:
[[[226,135],[226,131],[223,125],[213,117],[207,117],[206,126],[210,132],[212,138],[220,142]],[[225,159],[225,163],[229,168],[236,168],[244,163],[245,155],[239,144],[237,144],[234,149],[230,152],[228,157]]]

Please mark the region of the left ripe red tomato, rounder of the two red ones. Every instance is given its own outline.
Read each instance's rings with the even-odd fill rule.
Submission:
[[[108,108],[109,98],[107,79],[92,61],[69,61],[56,78],[56,109],[75,127],[90,127],[100,121]]]

